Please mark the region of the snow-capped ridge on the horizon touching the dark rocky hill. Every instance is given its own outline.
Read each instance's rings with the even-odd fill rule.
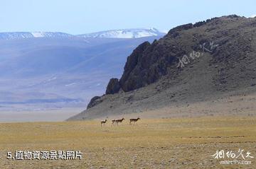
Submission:
[[[123,30],[107,30],[97,33],[78,35],[79,37],[104,37],[104,38],[139,38],[149,36],[165,35],[156,28],[137,28]]]

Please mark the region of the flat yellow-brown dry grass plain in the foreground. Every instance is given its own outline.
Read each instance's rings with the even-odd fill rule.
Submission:
[[[0,168],[256,168],[255,117],[193,117],[0,124]],[[250,151],[250,165],[223,165],[216,151]],[[7,159],[11,151],[81,151],[82,160]],[[226,158],[228,160],[228,158]]]

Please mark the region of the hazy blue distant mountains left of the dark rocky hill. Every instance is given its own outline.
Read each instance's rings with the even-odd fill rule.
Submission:
[[[135,30],[130,32],[140,33]],[[0,33],[0,111],[22,104],[26,110],[85,107],[93,95],[105,92],[110,77],[121,76],[137,45],[162,37],[102,38],[102,33]]]

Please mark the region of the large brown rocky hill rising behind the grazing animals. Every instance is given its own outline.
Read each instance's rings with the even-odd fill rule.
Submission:
[[[256,18],[223,16],[173,28],[139,45],[106,95],[69,120],[254,115]]]

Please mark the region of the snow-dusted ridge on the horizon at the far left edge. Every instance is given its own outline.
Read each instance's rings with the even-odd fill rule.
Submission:
[[[14,33],[0,33],[0,40],[17,40],[24,38],[33,37],[53,37],[53,38],[63,38],[63,37],[73,37],[68,33],[53,33],[53,32],[14,32]]]

